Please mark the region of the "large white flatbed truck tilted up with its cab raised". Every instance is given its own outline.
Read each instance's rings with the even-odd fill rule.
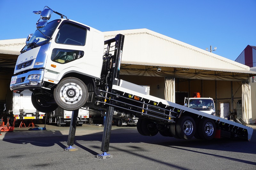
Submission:
[[[32,103],[41,112],[57,107],[74,113],[81,107],[106,112],[102,154],[108,152],[115,115],[139,118],[138,132],[146,136],[159,132],[168,137],[211,140],[226,132],[226,137],[250,141],[253,130],[248,126],[156,98],[147,94],[147,88],[119,79],[124,35],[104,41],[102,32],[47,6],[34,13],[43,21],[37,21],[37,30],[21,50],[10,89],[32,91]],[[60,19],[48,23],[52,13]]]

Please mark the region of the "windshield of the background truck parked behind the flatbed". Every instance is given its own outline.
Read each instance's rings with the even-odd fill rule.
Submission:
[[[214,103],[211,99],[190,99],[188,107],[196,110],[211,110],[214,108]]]

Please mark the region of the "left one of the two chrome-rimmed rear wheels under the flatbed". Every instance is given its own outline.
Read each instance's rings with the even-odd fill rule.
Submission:
[[[181,139],[191,139],[196,133],[196,122],[190,116],[182,116],[176,122],[175,132]]]

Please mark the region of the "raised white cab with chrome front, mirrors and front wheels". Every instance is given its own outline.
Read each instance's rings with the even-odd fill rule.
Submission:
[[[53,12],[61,18],[47,22]],[[37,21],[35,33],[20,51],[10,89],[33,92],[33,106],[44,113],[58,106],[72,111],[93,104],[103,63],[103,33],[47,6],[34,13],[43,21]]]

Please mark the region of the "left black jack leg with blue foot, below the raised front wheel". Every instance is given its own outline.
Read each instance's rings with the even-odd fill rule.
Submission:
[[[77,149],[73,148],[72,145],[74,145],[74,140],[75,140],[76,118],[78,116],[78,111],[79,111],[79,109],[74,110],[72,112],[69,133],[68,133],[68,147],[64,149],[65,151],[77,151]]]

